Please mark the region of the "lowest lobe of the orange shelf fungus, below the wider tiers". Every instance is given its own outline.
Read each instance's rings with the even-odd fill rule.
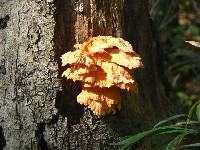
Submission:
[[[88,106],[98,116],[110,112],[115,113],[116,108],[121,109],[120,89],[116,87],[84,87],[77,96],[77,102]]]

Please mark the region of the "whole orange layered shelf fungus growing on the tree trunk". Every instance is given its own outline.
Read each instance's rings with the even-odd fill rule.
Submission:
[[[131,69],[142,67],[141,58],[122,38],[97,36],[76,44],[73,52],[61,56],[62,66],[70,64],[63,77],[82,82],[77,101],[97,116],[121,109],[120,89],[137,91]]]

